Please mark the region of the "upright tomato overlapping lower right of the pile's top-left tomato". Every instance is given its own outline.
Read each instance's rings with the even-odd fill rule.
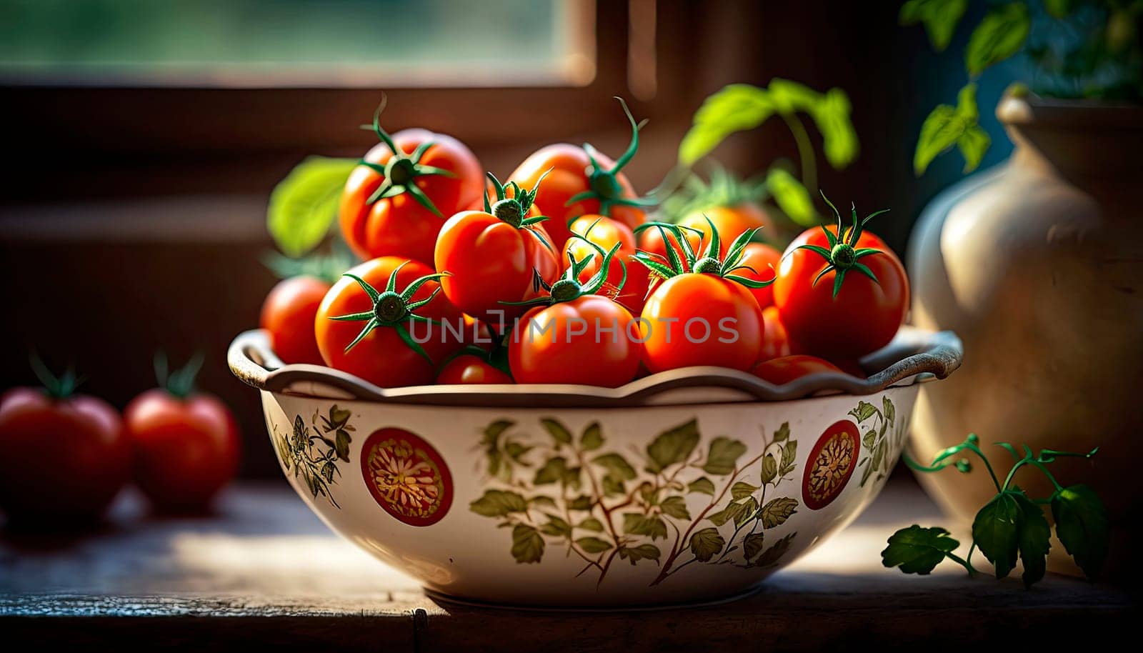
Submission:
[[[536,193],[509,182],[512,197],[491,174],[496,202],[485,210],[461,212],[445,223],[437,239],[433,260],[437,270],[448,272],[441,287],[448,300],[465,313],[503,332],[510,320],[523,312],[521,302],[539,293],[537,279],[555,281],[560,273],[555,248],[541,224],[543,216],[531,216]],[[541,180],[542,181],[542,180]]]

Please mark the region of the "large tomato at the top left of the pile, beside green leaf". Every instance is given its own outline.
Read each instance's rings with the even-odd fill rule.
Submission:
[[[432,263],[445,220],[480,206],[483,172],[464,143],[427,129],[390,136],[374,114],[381,140],[353,168],[338,212],[342,236],[361,258],[401,256]]]

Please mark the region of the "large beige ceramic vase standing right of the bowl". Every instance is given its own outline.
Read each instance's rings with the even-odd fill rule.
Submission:
[[[913,322],[965,345],[960,372],[921,391],[911,453],[928,461],[976,432],[1007,471],[991,443],[1098,446],[1052,470],[1103,496],[1118,526],[1108,575],[1125,580],[1137,572],[1116,560],[1143,494],[1143,107],[1008,96],[997,116],[1012,159],[937,198],[911,244]],[[996,493],[980,464],[919,476],[966,521]],[[1016,483],[1052,492],[1030,467]],[[1079,573],[1057,540],[1048,566]]]

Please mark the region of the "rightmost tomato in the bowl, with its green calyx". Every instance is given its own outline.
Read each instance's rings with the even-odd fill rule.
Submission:
[[[774,305],[790,337],[806,351],[857,358],[897,333],[909,310],[909,279],[885,242],[864,231],[884,210],[858,220],[854,209],[849,228],[833,210],[837,225],[807,230],[786,248]]]

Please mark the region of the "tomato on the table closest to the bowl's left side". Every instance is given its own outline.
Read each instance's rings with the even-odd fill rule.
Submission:
[[[195,357],[168,376],[166,358],[157,357],[160,387],[123,411],[135,483],[160,510],[201,510],[238,471],[238,422],[217,397],[194,391],[201,365]]]

